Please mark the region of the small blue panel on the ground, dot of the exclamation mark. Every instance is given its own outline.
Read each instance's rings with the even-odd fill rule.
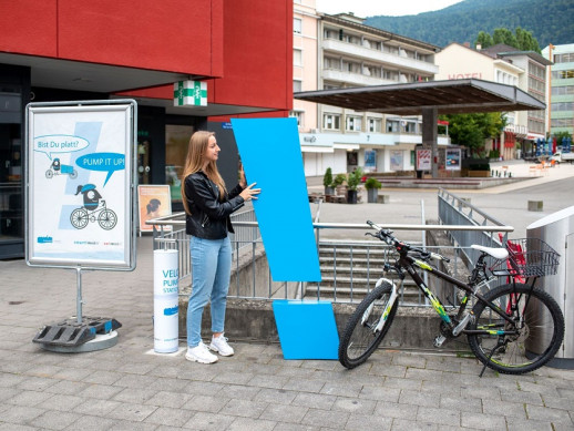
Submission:
[[[285,359],[337,359],[339,335],[328,301],[275,300],[275,322]]]

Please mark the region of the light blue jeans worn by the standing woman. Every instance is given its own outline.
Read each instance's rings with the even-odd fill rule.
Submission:
[[[203,239],[192,236],[192,295],[187,304],[187,346],[202,341],[202,316],[212,301],[212,331],[223,332],[225,307],[232,273],[232,245],[229,237]]]

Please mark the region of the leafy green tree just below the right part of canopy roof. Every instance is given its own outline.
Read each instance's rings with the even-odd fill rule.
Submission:
[[[449,136],[455,145],[465,146],[472,157],[483,157],[484,140],[496,137],[506,125],[500,112],[441,115],[449,122]]]

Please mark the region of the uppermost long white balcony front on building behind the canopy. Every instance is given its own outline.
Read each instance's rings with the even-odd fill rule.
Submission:
[[[378,62],[392,65],[393,69],[408,70],[418,74],[437,74],[439,66],[421,60],[410,59],[391,54],[388,52],[377,51],[370,48],[361,47],[353,43],[341,42],[335,39],[327,39],[322,42],[324,51],[336,52],[339,55],[352,57],[369,62]]]

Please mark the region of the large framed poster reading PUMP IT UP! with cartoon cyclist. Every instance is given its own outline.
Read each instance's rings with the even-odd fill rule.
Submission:
[[[27,263],[135,267],[133,101],[27,107]]]

